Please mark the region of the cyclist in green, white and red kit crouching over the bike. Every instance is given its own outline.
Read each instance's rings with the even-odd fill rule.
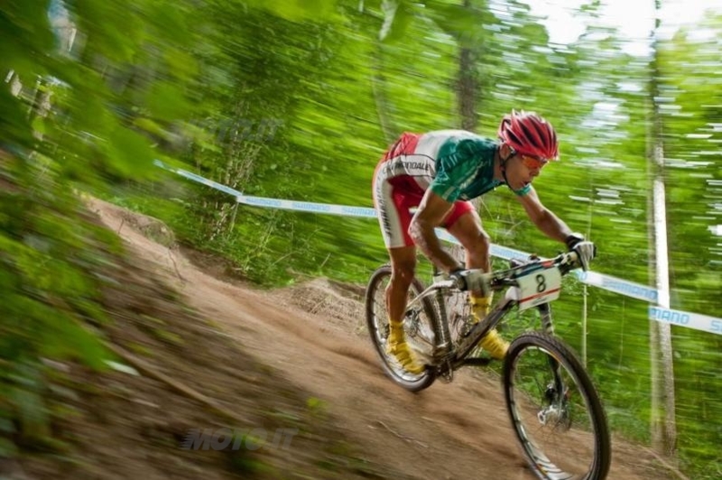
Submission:
[[[403,314],[416,267],[416,247],[443,272],[464,278],[464,267],[441,248],[434,232],[443,226],[466,251],[466,268],[489,272],[489,235],[468,201],[505,184],[521,202],[532,222],[569,249],[583,241],[559,217],[542,205],[532,180],[544,165],[557,160],[554,128],[532,112],[504,115],[498,141],[463,130],[403,134],[378,163],[373,194],[384,244],[391,257],[391,282],[386,289],[390,332],[387,352],[403,368],[420,374],[424,365],[406,344]],[[412,213],[410,210],[416,208]],[[476,321],[485,318],[491,295],[481,282],[467,284]],[[494,358],[509,347],[495,329],[479,344]]]

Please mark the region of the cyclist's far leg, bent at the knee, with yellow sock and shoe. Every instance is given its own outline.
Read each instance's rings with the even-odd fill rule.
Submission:
[[[464,247],[467,255],[467,268],[481,268],[485,272],[491,270],[489,250],[491,242],[481,226],[481,218],[477,210],[470,202],[457,202],[449,214],[446,222],[449,234],[459,241]],[[469,292],[469,303],[476,321],[480,321],[489,314],[491,309],[491,295],[483,296],[481,291]],[[499,336],[498,332],[490,330],[480,344],[488,353],[495,358],[504,358],[509,349],[509,343]]]

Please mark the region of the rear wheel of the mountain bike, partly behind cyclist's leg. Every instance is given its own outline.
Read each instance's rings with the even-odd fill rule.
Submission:
[[[435,369],[427,367],[421,374],[406,372],[392,355],[386,353],[389,337],[389,316],[386,311],[385,291],[391,281],[391,267],[384,265],[372,275],[366,286],[366,326],[376,353],[381,358],[384,372],[394,383],[410,392],[428,388],[436,379]],[[417,279],[412,282],[409,300],[423,291],[423,285]],[[408,309],[403,318],[403,330],[406,342],[421,359],[430,363],[435,346],[439,322],[431,301],[426,298]]]

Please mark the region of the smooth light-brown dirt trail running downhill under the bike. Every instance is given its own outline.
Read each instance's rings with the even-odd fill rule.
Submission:
[[[210,267],[199,268],[198,261],[142,235],[127,222],[131,214],[125,210],[101,201],[90,208],[201,316],[324,402],[341,420],[342,433],[376,465],[420,479],[533,478],[518,452],[494,377],[461,372],[453,383],[405,392],[378,365],[360,304],[329,282],[271,292],[226,282]],[[616,439],[609,478],[663,478],[653,465],[645,450]]]

